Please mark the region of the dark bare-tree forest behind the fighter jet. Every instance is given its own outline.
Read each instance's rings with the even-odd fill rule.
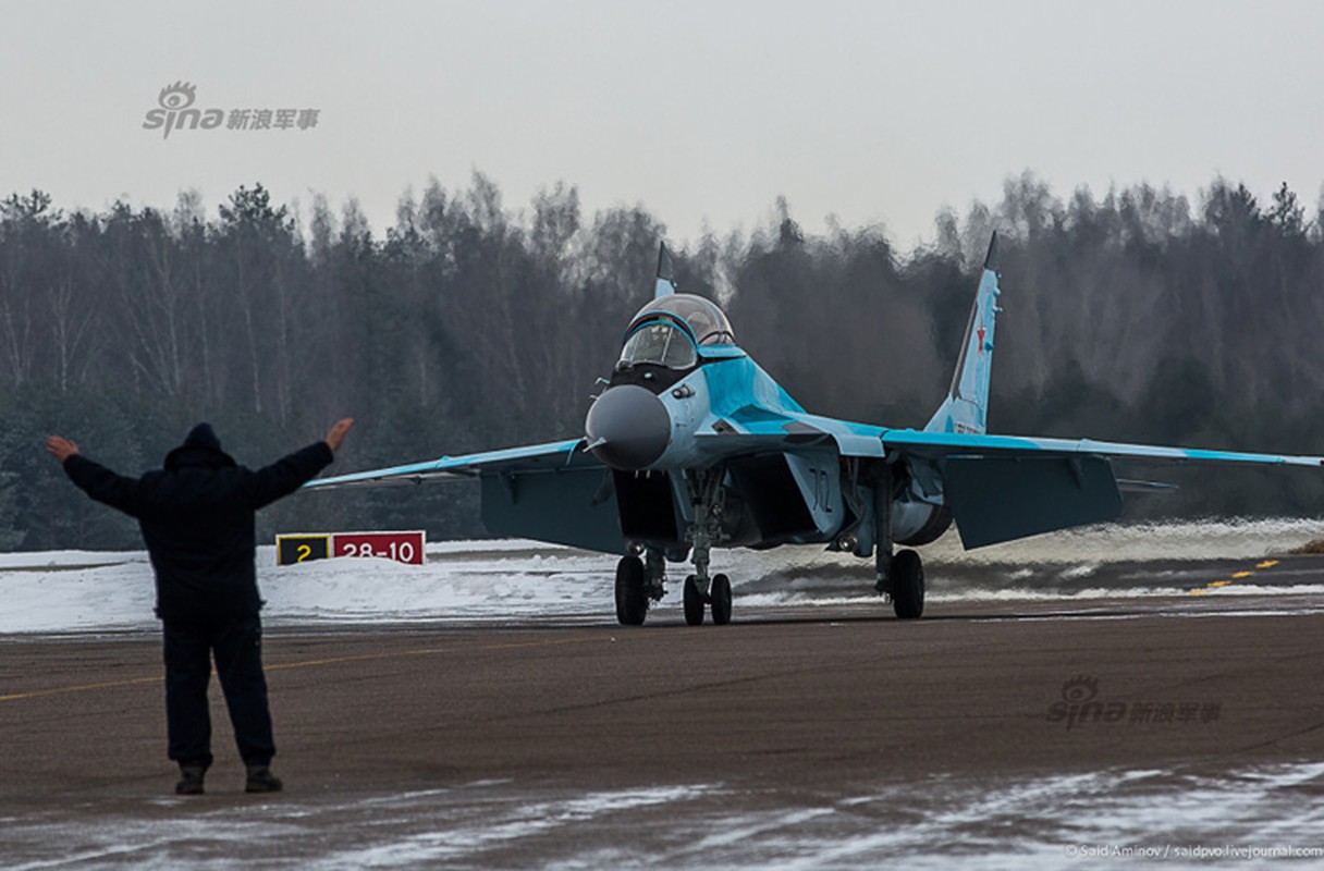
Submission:
[[[883,228],[806,234],[784,201],[749,233],[674,254],[681,289],[727,307],[737,342],[808,408],[919,426],[947,387],[989,234],[1001,237],[990,429],[1324,453],[1324,216],[1284,184],[1260,201],[1214,179],[1192,204],[1136,185],[1068,199],[1026,173],[996,204],[937,216],[899,252]],[[48,433],[128,473],[193,422],[256,466],[359,420],[347,471],[573,437],[663,224],[585,214],[567,184],[511,209],[475,173],[406,195],[375,234],[351,201],[308,214],[257,184],[214,217],[0,203],[0,548],[135,547],[130,520],[78,494]],[[1132,475],[1135,477],[1135,475]],[[1170,469],[1186,484],[1132,515],[1324,511],[1324,482]],[[465,484],[307,494],[275,529],[481,535]]]

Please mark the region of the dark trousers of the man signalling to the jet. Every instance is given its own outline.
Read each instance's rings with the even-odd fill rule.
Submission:
[[[167,619],[163,625],[169,757],[181,765],[209,768],[212,764],[207,684],[214,655],[240,757],[248,765],[270,764],[275,743],[262,674],[262,625],[257,614],[228,619]]]

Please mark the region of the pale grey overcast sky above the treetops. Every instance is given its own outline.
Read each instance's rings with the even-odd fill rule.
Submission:
[[[214,130],[144,130],[163,87]],[[489,0],[0,3],[0,195],[62,208],[216,204],[262,181],[357,197],[473,171],[523,208],[642,204],[673,241],[749,230],[777,196],[910,248],[944,206],[1031,169],[1059,196],[1215,173],[1266,199],[1324,183],[1324,4]],[[232,110],[318,110],[229,130]]]

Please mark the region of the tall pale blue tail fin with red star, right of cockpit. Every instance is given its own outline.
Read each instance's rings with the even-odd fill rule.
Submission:
[[[997,287],[997,233],[989,241],[984,273],[965,327],[965,343],[956,361],[952,388],[933,418],[929,433],[984,433],[988,429],[989,377],[993,372],[993,324],[1001,291]]]

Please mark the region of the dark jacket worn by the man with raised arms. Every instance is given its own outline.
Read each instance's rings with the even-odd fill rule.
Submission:
[[[156,573],[158,617],[211,619],[257,613],[253,515],[332,458],[326,442],[315,442],[253,471],[200,424],[166,457],[164,469],[136,481],[81,454],[65,461],[65,473],[93,499],[138,519]]]

